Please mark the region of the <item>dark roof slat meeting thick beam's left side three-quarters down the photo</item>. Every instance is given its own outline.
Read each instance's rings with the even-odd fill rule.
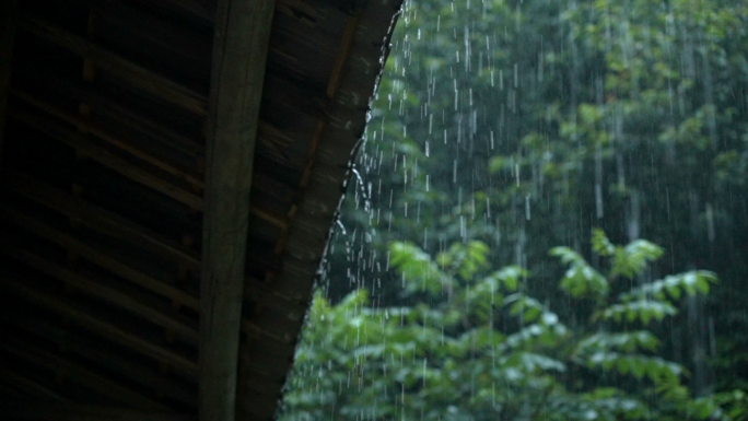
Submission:
[[[74,236],[63,233],[62,231],[59,231],[44,222],[37,221],[22,212],[0,204],[0,219],[3,219],[16,226],[21,226],[24,230],[27,230],[40,236],[42,238],[46,238],[63,248],[70,249],[100,268],[106,269],[109,272],[115,273],[140,288],[177,302],[179,305],[184,305],[187,308],[194,311],[198,311],[200,308],[199,300],[187,292],[174,288],[137,269],[133,269],[130,266],[107,255],[100,248],[91,247],[87,244],[77,239]]]

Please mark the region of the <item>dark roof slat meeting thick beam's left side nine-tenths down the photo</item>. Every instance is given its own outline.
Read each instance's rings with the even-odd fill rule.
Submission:
[[[124,347],[130,348],[156,361],[163,362],[170,367],[173,367],[188,376],[197,375],[197,364],[194,361],[179,355],[170,349],[151,343],[129,331],[91,316],[77,306],[68,304],[57,296],[36,291],[26,285],[25,282],[22,282],[15,278],[3,274],[0,277],[0,279],[3,281],[0,284],[0,288],[10,290],[14,295],[19,295],[30,303],[36,304],[49,309],[50,312],[65,316],[69,318],[70,321],[78,324],[93,334],[96,334]]]

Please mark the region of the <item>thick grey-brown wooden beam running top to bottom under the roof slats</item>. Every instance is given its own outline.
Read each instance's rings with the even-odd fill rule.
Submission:
[[[273,0],[220,0],[207,130],[200,421],[235,418],[252,172]]]

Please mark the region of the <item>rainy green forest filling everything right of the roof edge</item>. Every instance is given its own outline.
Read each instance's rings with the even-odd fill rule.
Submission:
[[[748,419],[747,31],[407,1],[281,419]]]

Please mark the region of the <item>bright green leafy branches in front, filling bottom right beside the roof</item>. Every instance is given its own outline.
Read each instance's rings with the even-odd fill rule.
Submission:
[[[642,261],[662,255],[647,242],[621,247],[599,231],[593,235],[611,267],[641,273]],[[524,292],[527,270],[484,274],[482,243],[455,244],[436,258],[408,243],[393,243],[390,253],[407,280],[404,293],[418,300],[377,307],[359,290],[332,305],[317,292],[282,420],[737,420],[746,413],[740,390],[691,398],[681,384],[688,373],[656,355],[661,340],[646,330],[676,314],[681,292],[708,294],[716,281],[711,272],[644,282],[611,302],[610,281],[580,254],[557,247],[552,254],[574,273],[595,273],[568,272],[559,282],[574,300],[595,299],[589,323],[572,331]],[[631,323],[642,327],[629,330]],[[638,386],[617,387],[627,378]]]

